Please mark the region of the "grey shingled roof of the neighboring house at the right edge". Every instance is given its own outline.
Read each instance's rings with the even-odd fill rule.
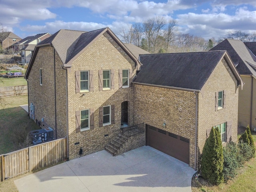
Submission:
[[[225,39],[220,44],[216,45],[212,50],[227,50],[232,61],[234,62],[238,72],[243,75],[256,76],[256,57],[255,54],[246,46],[252,48],[255,44],[244,43],[240,40]],[[255,48],[252,49],[255,53]]]

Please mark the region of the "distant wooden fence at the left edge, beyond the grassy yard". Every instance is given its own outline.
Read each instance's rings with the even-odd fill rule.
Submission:
[[[0,97],[13,97],[21,95],[28,95],[27,85],[0,87]]]

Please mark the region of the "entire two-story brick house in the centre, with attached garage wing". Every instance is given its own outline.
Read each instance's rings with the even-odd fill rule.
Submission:
[[[146,132],[119,154],[146,144],[196,169],[212,126],[224,143],[237,140],[243,82],[225,51],[138,56],[145,52],[128,47],[109,28],[60,30],[35,47],[25,76],[30,117],[67,137],[69,159],[80,148],[111,151],[125,126],[142,123]]]

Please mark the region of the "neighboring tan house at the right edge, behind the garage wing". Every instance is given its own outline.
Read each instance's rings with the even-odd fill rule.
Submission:
[[[227,50],[245,82],[239,90],[238,125],[256,127],[256,42],[226,39],[211,50]]]

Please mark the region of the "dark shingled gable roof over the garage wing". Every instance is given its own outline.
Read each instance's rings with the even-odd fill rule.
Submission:
[[[224,57],[230,60],[226,51],[140,55],[142,66],[133,83],[200,92]],[[229,62],[229,65],[241,84],[242,79],[234,64]]]

